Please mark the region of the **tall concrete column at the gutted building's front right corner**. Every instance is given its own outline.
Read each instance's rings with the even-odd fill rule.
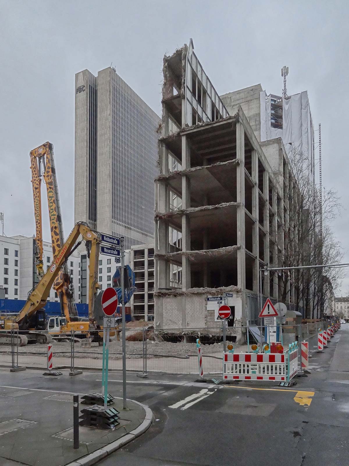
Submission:
[[[240,164],[236,167],[237,193],[237,285],[242,291],[242,322],[246,322],[246,275],[245,275],[245,131],[242,123],[236,123],[236,158]]]

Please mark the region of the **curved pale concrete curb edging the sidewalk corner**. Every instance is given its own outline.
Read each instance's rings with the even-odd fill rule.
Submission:
[[[132,401],[132,403],[139,404],[144,409],[144,411],[146,412],[144,421],[133,431],[121,437],[121,439],[115,440],[114,442],[111,442],[108,445],[105,445],[102,448],[99,448],[98,450],[86,456],[83,456],[82,458],[76,459],[72,463],[68,463],[66,466],[94,465],[95,463],[98,463],[98,461],[100,461],[101,459],[105,458],[107,455],[110,455],[111,453],[116,452],[116,450],[119,450],[119,448],[126,445],[128,442],[132,442],[132,440],[136,439],[137,437],[142,435],[142,433],[146,432],[149,429],[154,419],[153,411],[150,408],[148,408],[148,406],[139,403],[138,401],[129,399],[128,401]]]

